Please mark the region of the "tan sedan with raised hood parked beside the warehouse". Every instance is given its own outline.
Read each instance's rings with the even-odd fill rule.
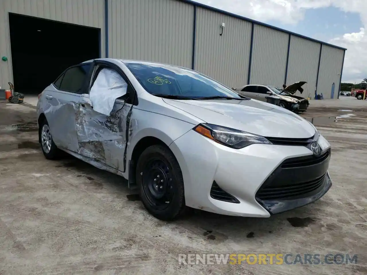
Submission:
[[[279,87],[269,86],[269,85],[255,85],[249,84],[245,85],[236,91],[244,96],[252,99],[257,99],[266,102],[266,96],[273,95],[280,98],[279,106],[285,109],[298,112],[304,112],[309,106],[309,101],[301,96],[295,96],[295,92],[298,90],[303,92],[302,86],[306,82],[301,81],[287,86],[285,89]]]

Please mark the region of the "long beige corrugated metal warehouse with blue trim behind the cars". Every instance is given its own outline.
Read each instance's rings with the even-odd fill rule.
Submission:
[[[346,50],[188,0],[1,0],[0,37],[0,86],[25,94],[110,57],[193,68],[228,87],[307,81],[303,96],[337,98]]]

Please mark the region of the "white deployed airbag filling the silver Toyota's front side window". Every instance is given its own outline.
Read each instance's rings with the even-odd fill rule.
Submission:
[[[127,92],[126,81],[115,70],[103,68],[89,92],[93,110],[110,115],[116,98]]]

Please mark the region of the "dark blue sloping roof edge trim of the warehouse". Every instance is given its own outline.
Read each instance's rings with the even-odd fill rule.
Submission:
[[[262,22],[259,22],[259,21],[241,16],[241,15],[238,15],[238,14],[234,14],[232,12],[220,10],[218,8],[210,7],[210,6],[207,6],[205,4],[197,3],[193,0],[179,0],[179,1],[182,1],[182,2],[185,2],[185,3],[188,3],[188,4],[192,4],[192,5],[197,6],[197,7],[205,8],[207,10],[219,12],[219,13],[224,14],[224,15],[229,15],[231,17],[242,19],[242,20],[245,20],[245,21],[248,21],[248,22],[251,22],[251,23],[255,23],[255,24],[260,25],[260,26],[269,27],[270,29],[273,29],[273,30],[279,30],[280,32],[289,33],[293,36],[301,37],[301,38],[304,38],[304,39],[307,39],[307,40],[310,40],[310,41],[313,41],[313,42],[316,42],[316,43],[320,43],[320,44],[323,44],[323,45],[327,45],[327,46],[330,46],[330,47],[333,47],[333,48],[342,49],[344,51],[347,50],[346,48],[339,47],[337,45],[329,44],[329,43],[326,43],[326,42],[321,41],[321,40],[317,40],[317,39],[314,39],[314,38],[311,38],[311,37],[304,36],[302,34],[291,32],[289,30],[284,30],[284,29],[281,29],[279,27],[275,27],[275,26],[272,26],[272,25],[269,25],[269,24],[266,24],[266,23],[262,23]]]

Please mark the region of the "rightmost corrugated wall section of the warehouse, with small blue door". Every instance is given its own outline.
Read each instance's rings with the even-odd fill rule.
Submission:
[[[333,98],[338,98],[340,84],[339,74],[342,70],[343,57],[344,50],[327,45],[322,46],[317,94],[322,93],[324,99],[331,98],[331,88],[333,83],[335,83]]]

